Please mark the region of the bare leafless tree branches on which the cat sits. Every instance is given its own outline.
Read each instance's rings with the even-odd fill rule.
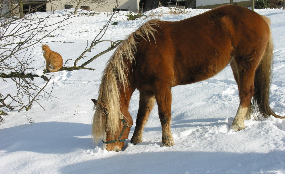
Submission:
[[[51,1],[54,0],[49,0],[46,3]],[[80,1],[87,2],[85,0]],[[116,8],[117,5],[118,1],[116,0]],[[1,7],[2,6],[0,6],[0,11]],[[54,20],[56,22],[50,23],[46,22],[46,20],[51,17],[55,17],[53,14],[47,15],[46,17],[24,14],[22,18],[19,18],[14,16],[15,14],[19,13],[15,12],[17,10],[19,11],[18,8],[15,8],[13,6],[8,12],[13,15],[1,14],[2,18],[0,16],[0,78],[2,78],[4,83],[14,83],[14,87],[16,88],[15,93],[7,94],[5,95],[6,97],[3,97],[3,95],[0,94],[0,108],[13,110],[18,107],[21,107],[19,111],[24,108],[26,109],[26,111],[28,111],[32,107],[32,104],[34,102],[37,102],[42,107],[39,102],[40,100],[52,99],[51,97],[54,97],[51,95],[54,85],[53,83],[51,89],[49,88],[48,91],[46,91],[46,86],[48,85],[48,82],[50,82],[51,79],[51,77],[48,77],[48,75],[53,76],[50,74],[50,71],[48,69],[44,70],[44,75],[41,76],[37,75],[38,73],[31,73],[34,71],[34,69],[42,68],[36,68],[32,66],[32,62],[34,61],[34,57],[36,56],[35,54],[33,54],[34,45],[42,43],[42,40],[44,38],[48,37],[52,32],[56,30],[66,30],[63,27],[72,23],[72,21],[68,22],[68,20],[80,15],[67,14],[66,12],[63,15],[57,16],[61,20]],[[34,10],[34,8],[31,8],[30,10]],[[115,49],[121,43],[120,40],[101,40],[105,35],[107,28],[111,22],[111,19],[115,13],[117,12],[114,11],[110,15],[108,22],[103,26],[103,29],[98,33],[98,35],[93,39],[93,41],[90,44],[88,44],[87,41],[87,46],[85,50],[74,61],[74,66],[65,66],[68,61],[72,60],[68,59],[65,62],[64,67],[62,67],[59,71],[73,71],[80,69],[95,70],[93,68],[86,67],[86,65],[94,61],[97,57]],[[53,29],[50,29],[51,27]],[[105,51],[102,51],[101,53],[96,54],[91,59],[88,59],[86,62],[82,63],[81,66],[76,66],[77,62],[80,59],[87,57],[85,56],[87,52],[91,52],[97,44],[102,42],[110,42],[111,47],[109,47]],[[65,42],[63,41],[63,43]],[[43,87],[38,86],[33,82],[34,78],[38,77],[44,79],[44,81],[46,82]],[[7,78],[10,78],[11,80],[8,80]],[[44,107],[42,107],[42,109],[44,109]]]

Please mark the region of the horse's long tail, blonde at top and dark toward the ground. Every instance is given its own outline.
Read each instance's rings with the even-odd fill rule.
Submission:
[[[270,19],[262,16],[270,28]],[[269,105],[270,85],[272,81],[272,65],[273,65],[273,40],[270,30],[269,40],[266,50],[260,60],[260,63],[255,71],[254,88],[255,93],[252,101],[252,113],[255,119],[260,119],[260,116],[267,118],[273,115],[277,118],[284,118],[276,115]]]

